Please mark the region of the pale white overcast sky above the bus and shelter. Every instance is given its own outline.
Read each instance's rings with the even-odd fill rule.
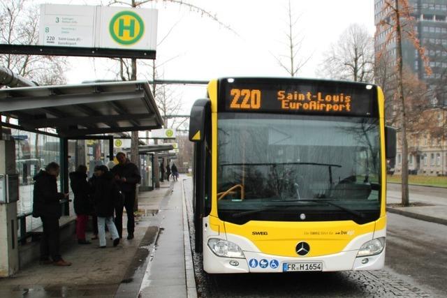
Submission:
[[[130,2],[130,0],[124,0]],[[159,10],[157,64],[166,80],[210,80],[222,76],[286,76],[274,56],[286,54],[288,0],[184,0],[205,8],[235,31],[230,31],[186,6],[173,3],[148,3],[145,8]],[[61,0],[35,3],[89,4],[101,1]],[[108,3],[103,0],[102,3]],[[301,57],[309,59],[300,77],[318,77],[316,69],[322,53],[350,24],[364,24],[374,33],[373,0],[292,0],[299,17],[295,33],[302,38]],[[71,58],[68,83],[114,78],[107,59]],[[168,62],[166,62],[168,61]],[[138,70],[139,79],[149,79]],[[321,77],[321,76],[320,76]],[[178,100],[189,114],[193,101],[203,97],[205,87],[175,88]]]

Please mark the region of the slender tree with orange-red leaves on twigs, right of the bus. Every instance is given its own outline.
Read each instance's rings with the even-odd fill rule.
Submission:
[[[413,28],[413,17],[411,16],[412,7],[408,0],[385,0],[381,11],[385,17],[379,22],[379,28],[388,30],[386,40],[378,54],[377,60],[385,53],[392,42],[396,45],[396,103],[400,111],[400,131],[402,143],[402,205],[409,205],[408,188],[408,112],[406,110],[406,98],[404,93],[403,66],[402,66],[402,38],[410,40],[420,54],[420,58],[425,62],[425,71],[431,73],[430,66],[427,64],[428,58],[425,56],[425,48],[420,45]]]

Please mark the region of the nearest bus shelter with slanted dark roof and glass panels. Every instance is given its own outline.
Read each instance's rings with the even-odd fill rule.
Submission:
[[[1,163],[13,159],[15,168],[10,174],[18,174],[18,197],[22,201],[29,200],[29,207],[32,175],[45,164],[57,161],[61,165],[60,191],[69,192],[69,171],[85,164],[91,174],[94,165],[112,160],[113,133],[152,130],[163,125],[154,96],[145,81],[0,89],[0,113],[0,139],[15,143],[15,149],[5,150]],[[4,117],[12,120],[4,121]],[[18,133],[11,134],[11,131]],[[46,140],[45,146],[41,136]],[[2,168],[8,166],[0,166]],[[22,189],[26,191],[22,192]],[[17,210],[17,202],[4,206]],[[68,201],[62,208],[64,215],[70,213]],[[16,235],[12,235],[13,239],[26,243],[29,237],[27,216],[30,214],[31,208],[19,212],[14,218],[20,228]]]

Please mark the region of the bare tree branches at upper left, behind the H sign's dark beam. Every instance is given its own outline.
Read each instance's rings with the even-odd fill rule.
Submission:
[[[27,0],[0,2],[0,43],[36,45],[38,43],[38,7]],[[27,4],[27,8],[25,8]],[[64,84],[67,64],[64,58],[0,54],[0,66],[38,84]]]

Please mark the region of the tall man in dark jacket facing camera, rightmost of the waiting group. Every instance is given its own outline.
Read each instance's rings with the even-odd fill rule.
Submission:
[[[133,231],[135,229],[135,218],[133,216],[133,209],[135,206],[135,191],[136,185],[140,183],[141,176],[138,167],[126,158],[126,154],[119,152],[117,154],[118,164],[112,167],[112,173],[115,176],[115,181],[119,189],[124,194],[124,207],[127,213],[127,239],[133,239]],[[119,212],[116,210],[115,225],[117,226],[119,237],[122,237],[123,232],[123,209]]]

